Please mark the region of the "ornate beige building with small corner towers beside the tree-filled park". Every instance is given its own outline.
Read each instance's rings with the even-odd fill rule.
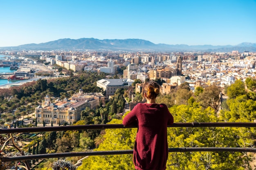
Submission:
[[[73,124],[81,118],[81,112],[89,107],[96,108],[101,102],[104,104],[105,97],[101,93],[84,94],[79,91],[79,94],[73,95],[70,99],[63,101],[56,100],[52,102],[50,97],[45,96],[45,101],[42,106],[35,109],[37,122],[42,124]]]

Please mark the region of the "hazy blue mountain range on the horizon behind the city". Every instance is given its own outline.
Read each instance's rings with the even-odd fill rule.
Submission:
[[[77,40],[65,38],[40,44],[24,44],[20,46],[0,47],[0,49],[13,50],[93,50],[93,51],[202,51],[202,52],[256,52],[256,43],[243,42],[232,46],[213,45],[186,45],[186,44],[154,44],[147,40],[125,39],[125,40],[99,40],[95,38],[80,38]]]

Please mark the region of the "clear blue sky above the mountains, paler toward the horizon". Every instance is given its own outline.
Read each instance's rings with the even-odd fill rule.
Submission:
[[[0,47],[62,38],[256,43],[256,0],[0,0]]]

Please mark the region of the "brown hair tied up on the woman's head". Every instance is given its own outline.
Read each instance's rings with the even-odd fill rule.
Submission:
[[[150,80],[145,83],[142,89],[142,97],[144,97],[144,93],[146,93],[146,98],[155,99],[159,95],[159,84],[157,82]]]

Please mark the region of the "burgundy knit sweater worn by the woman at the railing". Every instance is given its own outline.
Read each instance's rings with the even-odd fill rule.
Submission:
[[[138,124],[133,162],[137,170],[165,170],[168,158],[167,125],[173,116],[165,104],[137,104],[126,117],[124,126]]]

